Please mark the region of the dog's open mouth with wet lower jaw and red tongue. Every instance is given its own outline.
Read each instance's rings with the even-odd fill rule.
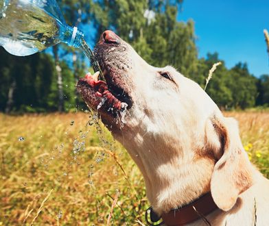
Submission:
[[[101,64],[102,65],[102,64]],[[104,63],[103,63],[104,65]],[[105,81],[98,79],[99,72],[91,75],[90,73],[78,81],[77,89],[82,98],[90,108],[100,114],[110,114],[117,117],[119,112],[129,110],[132,107],[132,100],[124,88],[113,79],[115,73],[113,69],[104,69],[102,73]]]

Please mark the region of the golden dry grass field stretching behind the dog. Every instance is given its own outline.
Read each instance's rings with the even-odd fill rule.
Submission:
[[[269,112],[229,112],[269,177]],[[0,225],[139,225],[137,166],[89,114],[0,114]],[[144,223],[144,222],[143,222]]]

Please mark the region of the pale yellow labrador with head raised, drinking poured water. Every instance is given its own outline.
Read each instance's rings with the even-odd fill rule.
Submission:
[[[139,166],[154,212],[180,212],[204,194],[216,206],[203,213],[202,203],[200,217],[166,225],[269,225],[269,181],[250,164],[233,118],[194,81],[150,66],[113,32],[102,34],[95,55],[106,81],[88,74],[78,92]]]

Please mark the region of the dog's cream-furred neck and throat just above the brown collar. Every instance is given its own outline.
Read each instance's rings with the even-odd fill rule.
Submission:
[[[187,205],[210,191],[215,160],[209,156],[171,159],[176,156],[172,149],[169,154],[145,147],[126,149],[143,174],[148,199],[158,214]]]

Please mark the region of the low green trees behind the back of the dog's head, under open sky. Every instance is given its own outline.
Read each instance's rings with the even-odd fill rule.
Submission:
[[[218,53],[208,54],[207,60],[200,59],[199,72],[207,77],[208,71],[215,62],[222,62],[209,81],[207,93],[218,104],[220,108],[252,108],[258,96],[258,80],[248,72],[246,64],[239,62],[229,70],[224,61],[218,58]],[[198,77],[200,84],[200,77]],[[204,81],[203,81],[204,82]],[[202,84],[201,84],[202,86]]]

